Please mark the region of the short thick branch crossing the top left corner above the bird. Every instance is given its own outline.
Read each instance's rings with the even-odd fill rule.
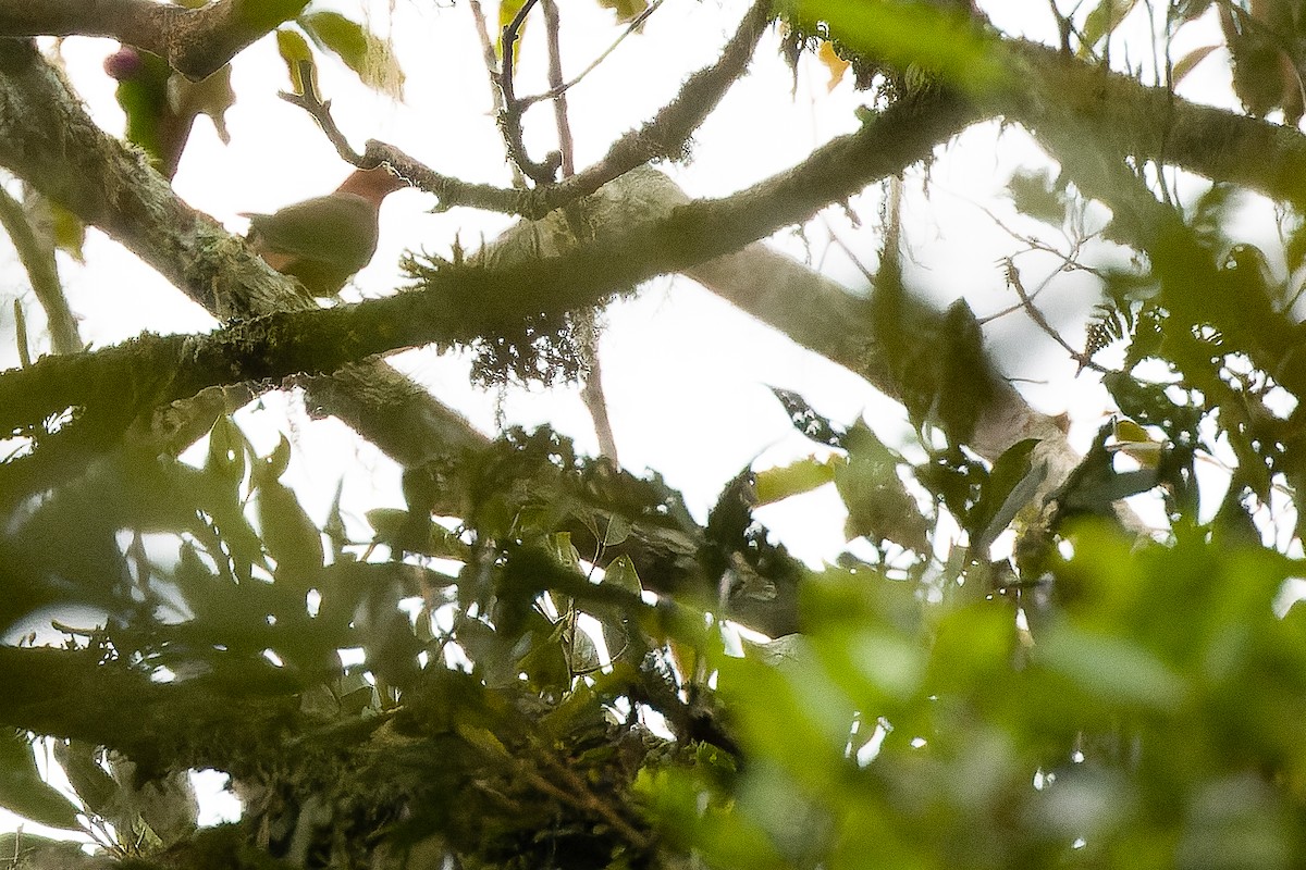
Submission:
[[[199,81],[307,5],[308,0],[215,0],[187,9],[154,0],[0,0],[0,35],[112,37]]]

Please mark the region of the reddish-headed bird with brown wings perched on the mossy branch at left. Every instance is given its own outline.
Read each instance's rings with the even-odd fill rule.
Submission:
[[[357,170],[332,193],[249,218],[246,240],[277,271],[317,297],[340,295],[376,253],[381,201],[406,187],[385,167]]]

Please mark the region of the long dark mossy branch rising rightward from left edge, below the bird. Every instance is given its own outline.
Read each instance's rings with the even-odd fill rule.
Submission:
[[[332,309],[302,305],[210,337],[142,337],[77,359],[44,360],[0,380],[0,432],[94,404],[95,397],[115,397],[119,406],[131,402],[124,397],[157,404],[218,383],[328,374],[370,355],[466,342],[541,310],[588,307],[801,223],[829,201],[929,155],[969,120],[966,107],[947,95],[901,103],[790,172],[727,200],[679,207],[669,207],[683,194],[666,176],[628,172],[609,190],[624,219],[594,220],[602,227],[594,243],[542,260],[511,257],[500,247],[487,253],[487,265],[441,270],[421,291]],[[640,220],[645,214],[653,219]]]

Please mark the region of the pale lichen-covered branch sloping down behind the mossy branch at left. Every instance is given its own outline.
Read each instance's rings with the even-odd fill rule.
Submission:
[[[63,78],[20,40],[0,40],[0,164],[104,230],[219,320],[316,308],[243,240],[179,200],[138,153],[101,130]],[[311,387],[313,406],[405,466],[483,443],[461,415],[380,363],[359,363]],[[56,458],[26,487],[78,467]]]

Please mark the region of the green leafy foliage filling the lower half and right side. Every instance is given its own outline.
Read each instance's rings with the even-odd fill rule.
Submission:
[[[599,4],[623,22],[653,8]],[[1147,5],[1053,4],[1059,63],[1080,63],[1071,35],[1105,61]],[[1209,5],[1170,4],[1165,26]],[[524,10],[500,4],[500,23]],[[1294,124],[1296,13],[1218,12],[1239,98]],[[385,43],[336,12],[265,14],[300,94],[320,52],[368,86],[402,82]],[[804,51],[833,78],[846,61],[882,107],[1013,86],[1003,39],[968,3],[785,14],[795,69]],[[128,138],[165,171],[182,128],[230,106],[225,78],[178,103],[161,59],[114,65]],[[853,338],[831,356],[874,370],[910,434],[773,387],[810,443],[738,470],[705,520],[657,473],[550,428],[414,460],[402,501],[360,515],[341,487],[324,522],[293,485],[291,440],[263,453],[229,413],[185,460],[121,432],[84,445],[65,477],[5,494],[0,626],[52,623],[64,643],[0,647],[0,805],[91,832],[104,861],[137,870],[1299,866],[1292,284],[1238,230],[1238,187],[1153,196],[1145,167],[1097,158],[1135,196],[1109,203],[1104,232],[1128,258],[1088,244],[1072,159],[1007,185],[1021,219],[1071,250],[1012,235],[1102,292],[1080,374],[1101,369],[1117,412],[1072,468],[1055,467],[1050,427],[993,447],[986,415],[1012,387],[969,303],[935,309],[914,291],[888,207],[874,293],[841,309],[850,322],[831,329]],[[1139,192],[1153,210],[1134,207]],[[1288,223],[1297,270],[1306,243]],[[447,275],[461,248],[454,260],[406,267]],[[584,378],[592,317],[541,310],[478,335],[473,373]],[[60,420],[9,434],[37,451]],[[812,567],[757,509],[821,488],[848,548]],[[1140,496],[1149,527],[1126,502]],[[196,831],[197,768],[230,776],[239,822]],[[0,840],[16,867],[85,857],[47,847]]]

